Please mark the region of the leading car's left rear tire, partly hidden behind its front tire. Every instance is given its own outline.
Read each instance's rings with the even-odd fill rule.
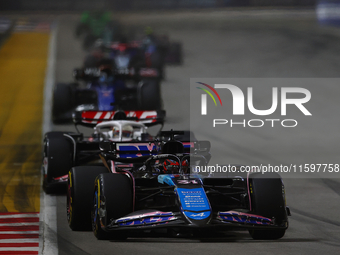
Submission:
[[[68,176],[67,220],[72,230],[91,230],[94,181],[108,169],[101,166],[73,167]]]

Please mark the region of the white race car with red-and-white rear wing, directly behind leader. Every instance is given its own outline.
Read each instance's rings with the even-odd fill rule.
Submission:
[[[65,186],[71,167],[98,164],[101,141],[152,140],[147,127],[161,125],[162,128],[164,117],[165,111],[77,112],[74,115],[76,130],[78,125],[82,125],[93,128],[93,133],[89,136],[79,131],[53,131],[45,134],[42,164],[45,192],[51,193]]]

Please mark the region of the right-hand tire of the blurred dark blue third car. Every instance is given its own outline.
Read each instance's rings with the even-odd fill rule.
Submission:
[[[157,79],[143,81],[140,95],[141,110],[160,110],[162,108],[160,82]]]

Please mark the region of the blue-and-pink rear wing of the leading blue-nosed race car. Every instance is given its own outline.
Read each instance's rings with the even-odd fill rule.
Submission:
[[[182,142],[184,153],[197,153],[203,156],[208,156],[210,160],[210,142]],[[148,158],[161,153],[162,142],[111,142],[104,141],[99,145],[100,150],[111,160],[119,162],[121,159]],[[132,161],[136,161],[132,160]],[[137,160],[138,161],[138,160]],[[128,160],[126,162],[129,162]]]

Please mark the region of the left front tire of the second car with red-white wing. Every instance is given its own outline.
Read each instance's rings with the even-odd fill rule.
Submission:
[[[44,138],[43,188],[46,193],[52,193],[53,178],[66,175],[73,165],[73,145],[64,136],[64,132],[49,132]]]

